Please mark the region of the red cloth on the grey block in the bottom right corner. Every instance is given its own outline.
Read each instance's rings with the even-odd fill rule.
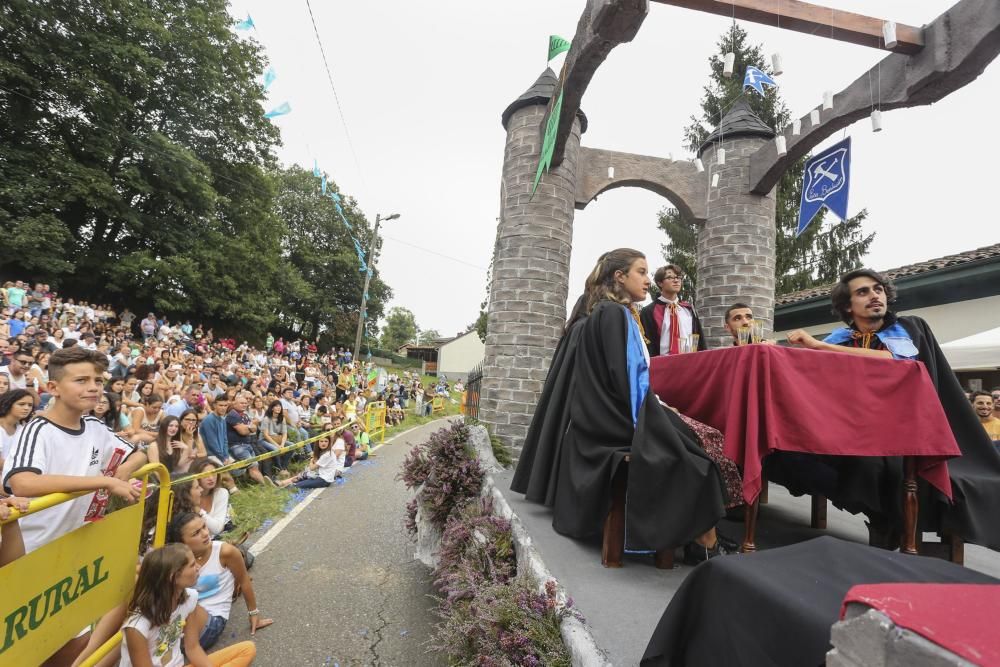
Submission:
[[[1000,586],[988,584],[863,584],[848,602],[881,611],[896,625],[943,646],[976,665],[1000,665]]]

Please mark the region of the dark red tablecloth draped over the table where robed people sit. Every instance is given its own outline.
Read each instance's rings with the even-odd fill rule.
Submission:
[[[916,456],[920,476],[951,498],[946,460],[961,452],[920,362],[746,345],[653,357],[650,385],[722,431],[726,456],[743,466],[747,503],[775,450]]]

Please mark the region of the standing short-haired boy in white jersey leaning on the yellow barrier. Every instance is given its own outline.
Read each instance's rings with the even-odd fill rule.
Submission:
[[[53,352],[47,390],[58,400],[44,416],[28,422],[4,462],[7,493],[37,498],[96,492],[21,518],[28,553],[99,519],[110,495],[129,502],[139,499],[139,490],[127,480],[146,462],[145,455],[88,414],[103,391],[106,368],[103,354],[79,345]],[[70,640],[45,664],[69,665],[86,642],[86,633]]]

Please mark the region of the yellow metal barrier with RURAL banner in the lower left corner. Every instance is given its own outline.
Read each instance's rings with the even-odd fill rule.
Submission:
[[[75,637],[80,628],[128,599],[135,586],[146,490],[149,475],[153,474],[159,478],[161,488],[169,488],[170,475],[165,467],[145,465],[133,475],[143,480],[139,502],[0,568],[0,618],[4,619],[0,665],[41,664]],[[92,493],[53,493],[36,498],[24,512],[13,509],[2,523]],[[169,502],[170,494],[161,493],[153,546],[162,546],[166,539]]]

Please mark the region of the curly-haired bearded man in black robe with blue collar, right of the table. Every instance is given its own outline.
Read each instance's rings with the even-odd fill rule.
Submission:
[[[889,310],[895,300],[892,283],[875,271],[859,269],[841,277],[831,292],[833,310],[848,325],[822,342],[798,330],[788,334],[792,344],[810,349],[837,350],[923,362],[937,390],[949,426],[962,456],[948,461],[954,502],[921,483],[919,530],[956,535],[964,541],[1000,550],[1000,454],[979,425],[975,411],[948,365],[927,322],[897,316]],[[920,406],[914,406],[920,409]],[[891,425],[887,425],[891,437]],[[900,457],[818,457],[835,471],[836,489],[830,500],[848,511],[864,512],[871,521],[872,543],[896,548],[902,528],[903,463]],[[796,488],[795,471],[773,470]],[[768,469],[770,479],[775,479]],[[801,477],[800,477],[801,478]]]

